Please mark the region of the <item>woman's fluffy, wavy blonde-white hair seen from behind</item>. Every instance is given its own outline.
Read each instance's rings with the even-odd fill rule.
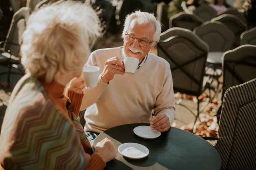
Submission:
[[[56,2],[34,12],[21,47],[26,72],[50,83],[59,72],[81,69],[101,34],[99,23],[96,12],[81,2]]]

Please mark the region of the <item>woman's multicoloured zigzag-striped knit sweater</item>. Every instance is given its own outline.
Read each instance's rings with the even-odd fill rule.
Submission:
[[[75,98],[72,91],[68,95]],[[80,105],[80,104],[79,104]],[[63,113],[38,79],[25,75],[15,86],[0,136],[0,164],[5,169],[103,169],[71,105]],[[76,112],[76,111],[75,111]]]

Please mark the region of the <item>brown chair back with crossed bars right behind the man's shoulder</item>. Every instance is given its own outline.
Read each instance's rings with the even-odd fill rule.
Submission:
[[[176,27],[161,33],[157,49],[171,66],[174,91],[199,96],[208,45],[190,30]]]

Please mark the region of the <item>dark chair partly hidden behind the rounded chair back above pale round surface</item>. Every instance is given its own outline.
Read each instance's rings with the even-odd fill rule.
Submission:
[[[235,34],[234,48],[240,46],[240,35],[247,30],[247,25],[240,18],[230,14],[223,14],[211,20],[225,24]]]

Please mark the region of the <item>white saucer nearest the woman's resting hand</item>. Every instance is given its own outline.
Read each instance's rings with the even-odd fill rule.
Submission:
[[[121,155],[130,159],[141,159],[149,154],[147,147],[139,143],[123,143],[117,150]]]

